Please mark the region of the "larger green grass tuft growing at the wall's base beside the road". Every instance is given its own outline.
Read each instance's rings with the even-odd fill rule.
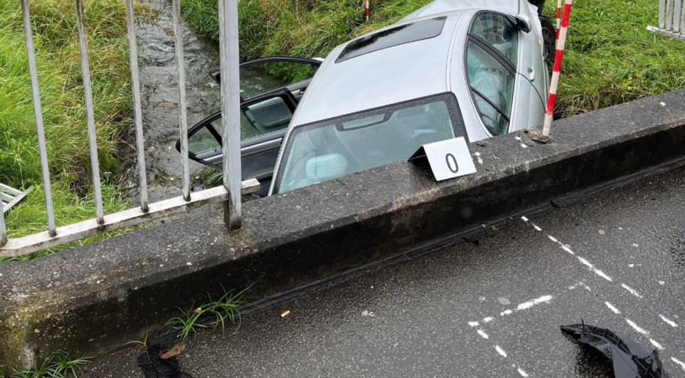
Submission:
[[[200,329],[217,329],[218,326],[221,326],[222,331],[224,331],[226,329],[226,321],[234,323],[236,319],[240,320],[238,307],[244,304],[242,298],[250,287],[239,293],[233,293],[232,290],[226,291],[224,289],[224,295],[218,298],[218,300],[212,300],[211,296],[207,294],[209,297],[208,303],[197,308],[193,304],[188,311],[179,309],[182,315],[169,320],[167,326],[179,331],[181,342],[187,340],[190,335],[195,335]]]

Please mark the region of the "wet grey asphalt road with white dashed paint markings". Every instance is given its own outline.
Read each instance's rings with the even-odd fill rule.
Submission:
[[[527,215],[249,315],[240,329],[200,333],[180,368],[195,378],[613,377],[561,333],[582,319],[659,348],[671,377],[685,377],[685,168]],[[92,376],[143,377],[138,354],[103,359]]]

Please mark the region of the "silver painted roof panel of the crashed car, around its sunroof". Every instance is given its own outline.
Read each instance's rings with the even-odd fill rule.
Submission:
[[[339,63],[335,60],[348,43],[336,47],[299,102],[291,127],[447,91],[452,35],[461,14],[442,14],[447,19],[441,34],[434,38],[379,49]],[[375,33],[415,21],[396,23]],[[350,43],[353,41],[356,39]]]

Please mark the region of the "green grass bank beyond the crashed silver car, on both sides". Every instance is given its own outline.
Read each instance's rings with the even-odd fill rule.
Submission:
[[[241,58],[326,56],[333,47],[389,25],[430,0],[243,0],[239,5]],[[218,41],[213,0],[182,0],[185,19]],[[654,0],[573,4],[556,115],[566,117],[685,87],[685,43],[648,32],[658,20]],[[556,1],[545,14],[554,19]]]

